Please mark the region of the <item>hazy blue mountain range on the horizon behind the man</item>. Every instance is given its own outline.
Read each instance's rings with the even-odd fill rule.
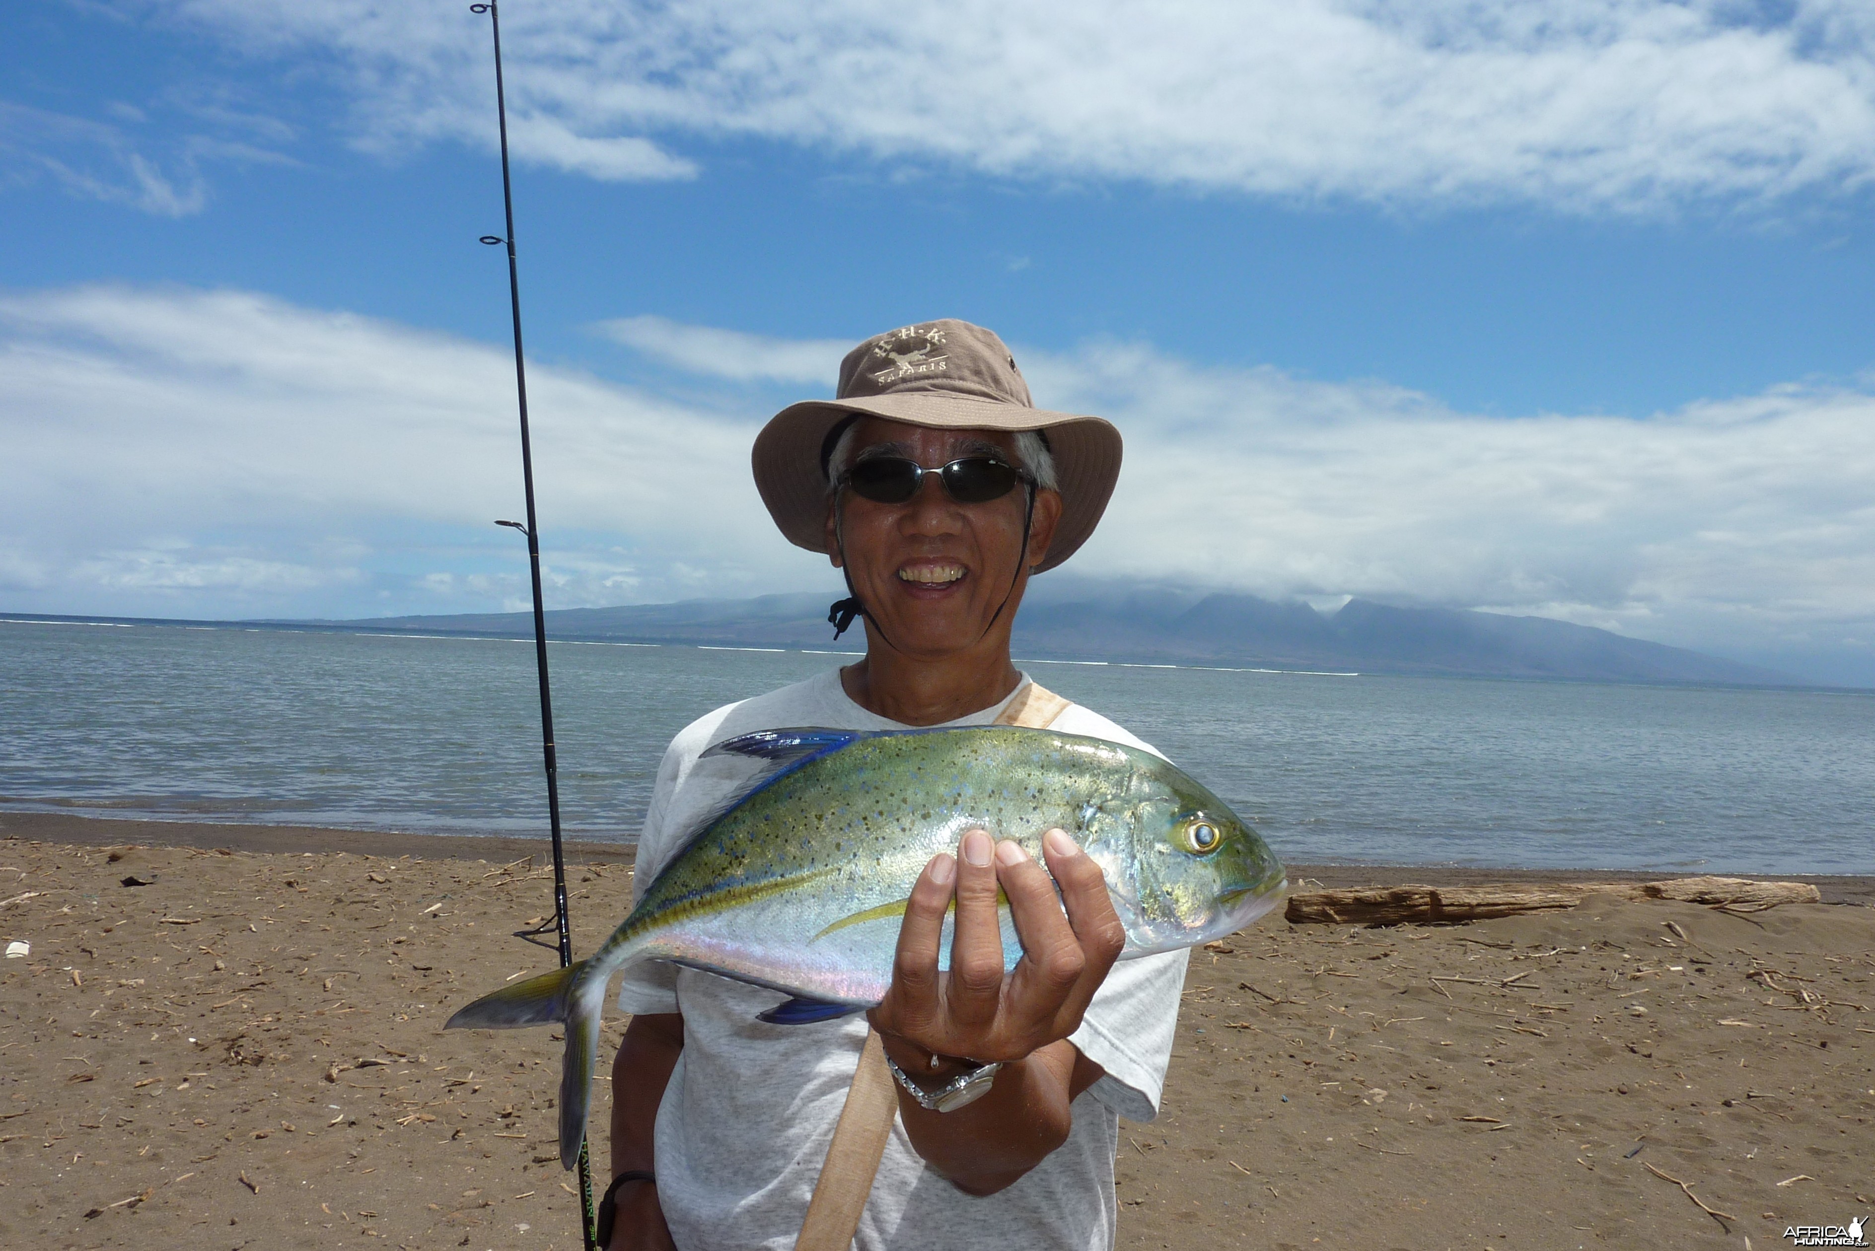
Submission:
[[[624,608],[562,608],[548,634],[564,640],[703,643],[716,647],[851,649],[827,625],[829,593],[750,600],[682,600]],[[532,634],[531,613],[456,613],[321,623],[371,630]],[[1016,656],[1230,664],[1273,670],[1545,677],[1616,683],[1794,686],[1798,679],[1684,647],[1646,643],[1547,617],[1350,600],[1322,613],[1301,602],[1200,593],[1148,583],[1041,580],[1016,619]]]

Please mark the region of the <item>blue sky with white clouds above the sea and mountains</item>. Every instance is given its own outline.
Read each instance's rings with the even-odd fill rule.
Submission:
[[[1864,6],[900,11],[504,11],[551,602],[832,585],[748,439],[954,315],[1129,433],[1086,576],[1875,685]],[[13,19],[0,608],[521,602],[486,34]]]

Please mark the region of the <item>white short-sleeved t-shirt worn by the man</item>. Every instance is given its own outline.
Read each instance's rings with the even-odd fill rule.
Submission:
[[[947,724],[986,726],[1005,705]],[[692,722],[658,767],[638,844],[634,902],[682,833],[733,786],[707,771],[694,775],[698,756],[735,735],[788,726],[906,730],[853,703],[838,670]],[[1069,705],[1052,728],[1153,750],[1080,705]],[[1149,1122],[1159,1114],[1185,960],[1185,951],[1174,951],[1114,964],[1071,1035],[1106,1077],[1074,1101],[1067,1142],[1014,1185],[981,1198],[966,1195],[924,1167],[894,1122],[859,1223],[859,1251],[1112,1247],[1119,1116]],[[789,1251],[801,1232],[859,1067],[866,1018],[808,1026],[756,1020],[784,998],[675,964],[641,964],[624,973],[622,1011],[684,1017],[684,1050],[656,1123],[658,1202],[682,1251]]]

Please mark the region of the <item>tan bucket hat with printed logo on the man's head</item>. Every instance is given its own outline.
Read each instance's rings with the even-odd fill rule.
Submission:
[[[1041,430],[1061,488],[1061,523],[1037,572],[1088,542],[1119,478],[1119,431],[1099,416],[1050,413],[994,332],[945,317],[878,334],[840,362],[834,399],[802,399],[756,435],[756,490],[797,548],[827,550],[827,456],[848,418],[939,430]]]

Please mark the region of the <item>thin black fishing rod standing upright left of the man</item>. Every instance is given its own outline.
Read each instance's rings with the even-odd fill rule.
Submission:
[[[548,827],[553,831],[553,928],[559,936],[561,968],[574,962],[574,940],[566,923],[566,855],[561,848],[561,775],[553,752],[553,690],[548,681],[548,613],[540,598],[540,523],[534,518],[534,448],[527,431],[527,362],[521,354],[521,268],[514,255],[514,180],[508,174],[508,94],[501,79],[501,13],[495,2],[471,4],[471,13],[488,13],[489,34],[495,39],[495,116],[501,122],[501,203],[506,210],[508,234],[484,234],[488,246],[508,246],[508,308],[514,313],[514,394],[521,411],[521,484],[527,488],[527,523],[495,521],[527,536],[527,565],[534,581],[534,670],[540,675],[540,754],[548,769]],[[548,927],[521,930],[523,936],[544,934]],[[579,1142],[579,1236],[587,1251],[598,1249],[592,1213],[592,1153]]]

